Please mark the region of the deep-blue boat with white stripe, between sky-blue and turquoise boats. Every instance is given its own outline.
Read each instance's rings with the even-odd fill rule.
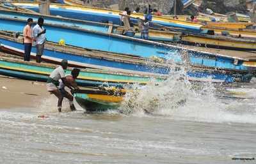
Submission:
[[[0,32],[1,50],[18,56],[24,56],[22,36],[15,38],[14,33]],[[35,57],[36,48],[32,48],[31,57]],[[79,68],[95,68],[100,70],[122,71],[137,75],[168,74],[168,64],[159,63],[155,59],[144,59],[137,56],[124,56],[97,50],[88,50],[70,45],[59,45],[47,41],[42,60],[56,63],[62,59],[70,61],[70,66]]]

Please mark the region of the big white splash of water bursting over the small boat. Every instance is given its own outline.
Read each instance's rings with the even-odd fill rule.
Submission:
[[[152,114],[188,121],[256,123],[253,119],[255,108],[255,112],[246,113],[239,101],[223,102],[215,95],[216,88],[211,79],[194,85],[189,82],[184,68],[179,71],[172,69],[163,82],[152,79],[145,87],[134,86],[134,91],[125,95],[120,111],[137,116]],[[244,112],[237,113],[237,110]]]

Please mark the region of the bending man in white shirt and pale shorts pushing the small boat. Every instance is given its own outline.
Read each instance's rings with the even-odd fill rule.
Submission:
[[[51,94],[54,94],[58,98],[58,110],[61,112],[61,104],[63,100],[63,96],[61,95],[61,92],[58,88],[60,85],[61,80],[63,84],[70,89],[73,89],[67,82],[65,78],[65,69],[67,69],[68,66],[68,61],[67,60],[62,60],[61,61],[61,66],[58,66],[55,70],[52,71],[51,75],[47,79],[47,84],[46,84],[46,89],[49,91]]]

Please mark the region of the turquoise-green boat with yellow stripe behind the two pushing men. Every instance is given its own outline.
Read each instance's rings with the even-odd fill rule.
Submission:
[[[51,72],[56,68],[56,64],[35,63],[33,61],[26,62],[22,59],[13,58],[9,54],[0,54],[0,75],[16,77],[25,80],[35,80],[46,82]],[[70,74],[70,70],[65,71]],[[122,87],[132,84],[145,85],[152,77],[143,75],[131,75],[118,71],[106,71],[95,69],[82,69],[77,78],[77,84],[83,87],[98,87],[98,86],[115,86]],[[164,78],[156,77],[156,80],[164,80]]]

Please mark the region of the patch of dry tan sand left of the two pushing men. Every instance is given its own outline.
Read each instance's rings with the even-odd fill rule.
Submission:
[[[49,96],[43,82],[0,76],[0,108],[36,107]]]

